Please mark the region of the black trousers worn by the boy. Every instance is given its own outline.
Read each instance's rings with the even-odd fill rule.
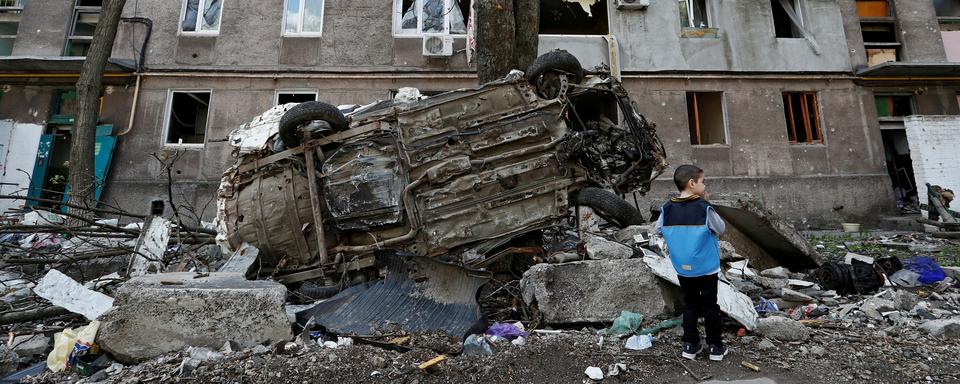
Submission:
[[[700,344],[697,318],[704,318],[707,345],[723,345],[720,306],[717,305],[717,274],[677,276],[683,291],[683,342]]]

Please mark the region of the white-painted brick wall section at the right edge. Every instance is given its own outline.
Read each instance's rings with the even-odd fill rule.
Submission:
[[[960,191],[960,116],[910,116],[904,125],[918,189],[930,183]]]

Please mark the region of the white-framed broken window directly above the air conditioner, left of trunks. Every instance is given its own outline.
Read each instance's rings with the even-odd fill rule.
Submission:
[[[469,0],[394,0],[396,35],[465,34]]]

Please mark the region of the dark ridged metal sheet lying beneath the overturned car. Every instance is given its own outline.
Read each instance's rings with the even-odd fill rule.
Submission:
[[[377,251],[377,259],[386,279],[350,287],[297,313],[297,322],[312,317],[328,332],[357,336],[440,331],[462,340],[483,330],[476,296],[488,272],[392,250]]]

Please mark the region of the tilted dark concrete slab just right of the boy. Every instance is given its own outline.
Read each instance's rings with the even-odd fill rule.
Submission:
[[[710,203],[727,223],[721,240],[732,243],[757,268],[805,270],[825,261],[800,231],[750,194],[722,194]]]

